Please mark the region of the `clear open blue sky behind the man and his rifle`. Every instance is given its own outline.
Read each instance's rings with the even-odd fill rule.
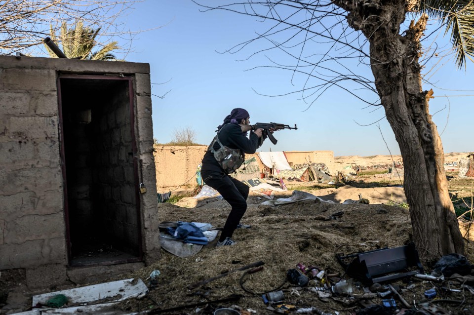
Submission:
[[[197,142],[207,145],[222,119],[233,108],[242,107],[249,111],[251,122],[298,125],[298,130],[276,132],[278,143],[266,141],[259,151],[331,150],[335,156],[370,156],[389,154],[390,149],[399,154],[385,118],[379,125],[388,148],[377,125],[359,125],[382,118],[383,109],[362,109],[365,103],[342,89],[329,89],[309,109],[300,100],[301,94],[268,97],[255,93],[253,89],[276,95],[301,87],[298,81],[293,86],[290,74],[283,71],[248,71],[269,64],[263,55],[237,61],[261,47],[259,44],[234,55],[216,52],[251,39],[255,31],[268,28],[265,23],[222,10],[199,12],[190,0],[145,0],[124,19],[131,31],[159,27],[135,36],[125,59],[150,64],[153,94],[169,91],[162,99],[152,97],[154,136],[161,143],[170,141],[176,128],[189,126],[196,131]],[[440,47],[449,46],[448,39],[437,42]],[[474,94],[473,65],[468,64],[465,73],[456,69],[452,58],[441,64],[444,66],[430,77],[435,86],[425,84],[424,89],[433,88],[435,96],[450,96],[430,101],[432,114],[449,107],[449,112],[446,108],[434,116],[439,132],[445,129],[441,135],[444,151],[474,151],[469,140],[473,97],[453,96]],[[354,64],[352,70],[373,79],[363,65]],[[373,101],[374,97],[367,94],[367,98]]]

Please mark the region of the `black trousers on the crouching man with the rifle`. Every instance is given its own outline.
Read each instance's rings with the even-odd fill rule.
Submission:
[[[204,183],[218,191],[232,206],[219,238],[219,241],[223,241],[226,237],[232,237],[237,224],[247,210],[249,187],[224,172],[201,170],[201,175]]]

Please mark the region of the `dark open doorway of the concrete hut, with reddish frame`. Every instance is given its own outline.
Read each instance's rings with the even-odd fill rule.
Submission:
[[[130,77],[59,77],[69,263],[141,260]]]

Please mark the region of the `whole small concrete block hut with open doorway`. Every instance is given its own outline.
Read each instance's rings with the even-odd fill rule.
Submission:
[[[2,273],[50,286],[159,258],[150,93],[148,64],[0,56]]]

